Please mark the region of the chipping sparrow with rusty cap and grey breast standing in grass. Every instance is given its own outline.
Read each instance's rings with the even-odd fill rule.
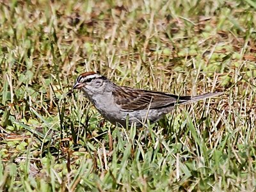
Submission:
[[[136,126],[147,122],[146,119],[156,122],[171,112],[176,104],[191,103],[223,93],[191,97],[120,87],[93,71],[79,75],[73,89],[81,89],[105,119],[122,126],[125,126],[127,118],[130,125],[136,122]]]

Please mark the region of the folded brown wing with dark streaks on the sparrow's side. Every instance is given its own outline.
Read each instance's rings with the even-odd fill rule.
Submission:
[[[179,103],[191,100],[189,96],[179,98],[179,96],[164,92],[145,91],[129,87],[119,87],[113,92],[113,96],[115,102],[120,105],[123,110],[142,110],[148,107],[161,108],[175,105],[178,99]]]

